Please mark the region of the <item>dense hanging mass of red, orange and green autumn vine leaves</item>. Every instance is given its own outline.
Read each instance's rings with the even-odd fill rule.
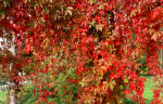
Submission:
[[[15,38],[11,78],[32,80],[35,102],[143,104],[145,55],[147,72],[162,77],[162,0],[2,0],[0,13],[1,37]]]

